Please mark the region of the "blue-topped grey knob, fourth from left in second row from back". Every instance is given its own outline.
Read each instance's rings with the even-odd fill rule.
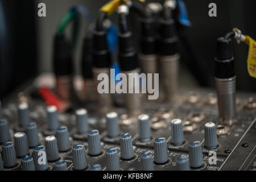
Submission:
[[[88,148],[88,153],[90,155],[101,154],[101,141],[100,133],[98,133],[98,130],[92,130],[88,132]]]

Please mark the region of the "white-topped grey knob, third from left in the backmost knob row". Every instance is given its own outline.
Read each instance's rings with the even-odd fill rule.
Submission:
[[[79,134],[86,134],[88,131],[88,114],[86,109],[76,110],[76,126]]]

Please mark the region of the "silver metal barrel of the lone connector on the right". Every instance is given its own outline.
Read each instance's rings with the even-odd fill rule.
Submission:
[[[218,112],[223,125],[236,122],[236,76],[232,78],[216,78]]]

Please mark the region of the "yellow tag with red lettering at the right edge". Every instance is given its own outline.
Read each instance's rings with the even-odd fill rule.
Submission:
[[[256,78],[256,42],[250,36],[245,36],[245,43],[249,46],[247,70],[251,77]]]

